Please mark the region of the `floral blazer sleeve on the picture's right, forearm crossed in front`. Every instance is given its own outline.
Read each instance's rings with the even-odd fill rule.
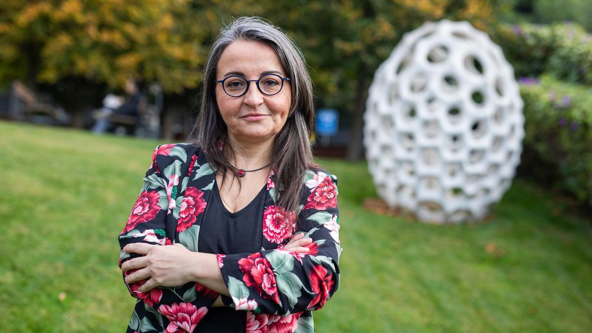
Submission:
[[[323,171],[309,178],[303,186],[296,230],[313,239],[310,251],[297,254],[278,248],[253,254],[218,254],[218,265],[230,293],[230,297],[222,296],[227,306],[288,316],[322,308],[339,287],[342,248],[337,224],[337,178]],[[264,219],[268,213],[275,218],[278,214],[289,218],[281,207],[268,207]]]

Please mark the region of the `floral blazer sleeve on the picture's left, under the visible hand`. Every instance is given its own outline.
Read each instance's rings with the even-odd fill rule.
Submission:
[[[140,195],[131,209],[126,226],[119,235],[120,258],[119,266],[139,254],[127,254],[124,246],[131,243],[144,242],[155,245],[171,245],[176,235],[175,207],[177,198],[182,197],[183,184],[181,176],[186,174],[187,149],[182,145],[162,145],[155,149],[152,165],[144,177],[144,185]],[[133,273],[131,270],[123,273],[123,278]],[[139,287],[145,281],[126,283],[131,296],[142,300],[150,308],[162,315],[168,315],[173,308],[181,303],[191,303],[202,313],[218,296],[213,290],[198,283],[187,283],[173,288],[157,287],[149,292],[139,292]],[[184,305],[188,306],[188,305]],[[202,309],[203,307],[206,307]]]

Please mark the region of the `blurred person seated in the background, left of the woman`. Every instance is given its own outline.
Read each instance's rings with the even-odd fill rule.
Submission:
[[[126,121],[127,124],[137,124],[140,117],[140,108],[143,103],[143,95],[140,90],[139,82],[135,79],[129,78],[126,80],[126,94],[127,98],[108,94],[103,99],[103,107],[94,115],[96,122],[92,127],[92,132],[101,134],[107,132],[113,125],[114,121],[111,115],[120,115],[131,117],[131,121]]]

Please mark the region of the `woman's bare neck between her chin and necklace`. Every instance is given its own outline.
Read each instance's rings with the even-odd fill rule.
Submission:
[[[273,146],[274,137],[257,142],[239,142],[229,137],[229,140],[224,145],[224,150],[234,167],[256,169],[271,162]]]

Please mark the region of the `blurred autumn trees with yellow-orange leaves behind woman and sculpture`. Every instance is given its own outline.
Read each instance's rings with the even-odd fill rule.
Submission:
[[[194,95],[208,43],[221,25],[232,17],[259,15],[282,27],[303,50],[317,105],[351,115],[349,158],[358,159],[372,75],[403,33],[444,17],[469,20],[484,29],[510,2],[4,0],[0,84],[21,78],[31,86],[37,82],[66,87],[63,100],[78,101],[72,106],[75,110],[88,103],[88,97],[76,98],[84,87],[118,87],[130,76],[159,81],[168,101]]]

